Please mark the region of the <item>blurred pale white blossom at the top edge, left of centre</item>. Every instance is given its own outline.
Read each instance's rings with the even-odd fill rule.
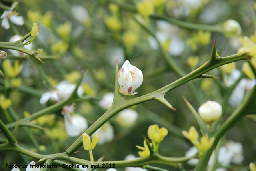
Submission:
[[[81,5],[75,5],[71,7],[71,13],[76,20],[84,23],[90,19],[89,12]]]

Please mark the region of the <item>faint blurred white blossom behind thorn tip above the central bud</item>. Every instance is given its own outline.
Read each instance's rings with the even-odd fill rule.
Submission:
[[[120,47],[115,47],[110,50],[109,53],[109,62],[112,66],[116,66],[116,60],[118,60],[119,64],[124,63],[124,49]]]

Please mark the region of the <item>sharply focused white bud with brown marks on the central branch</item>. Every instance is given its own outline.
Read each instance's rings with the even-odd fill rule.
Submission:
[[[118,72],[119,92],[123,95],[134,95],[134,92],[143,81],[143,74],[140,69],[132,66],[127,60]]]

